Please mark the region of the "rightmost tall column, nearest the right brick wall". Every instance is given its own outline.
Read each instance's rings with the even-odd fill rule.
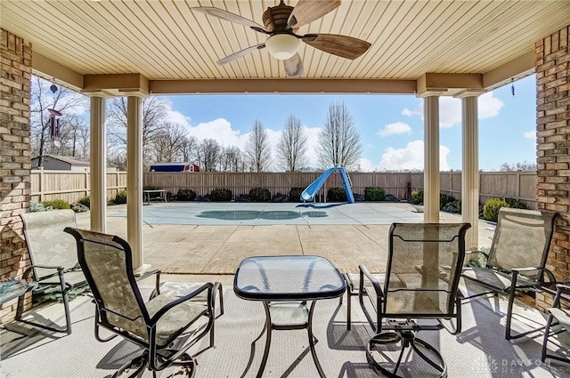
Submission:
[[[463,169],[461,171],[461,221],[471,223],[465,247],[476,251],[479,243],[479,125],[477,96],[480,92],[461,92]]]

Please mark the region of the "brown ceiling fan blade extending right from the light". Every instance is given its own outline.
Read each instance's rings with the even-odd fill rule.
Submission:
[[[315,49],[346,59],[356,59],[371,47],[370,43],[362,39],[338,34],[311,34],[302,36],[301,39]]]

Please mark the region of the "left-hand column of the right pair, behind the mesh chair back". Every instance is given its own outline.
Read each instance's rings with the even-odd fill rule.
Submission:
[[[439,92],[424,99],[424,222],[439,222]]]

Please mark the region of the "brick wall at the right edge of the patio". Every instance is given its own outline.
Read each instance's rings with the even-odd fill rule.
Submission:
[[[536,49],[537,206],[558,212],[547,267],[570,279],[570,25],[538,41]],[[544,309],[551,298],[537,295]]]

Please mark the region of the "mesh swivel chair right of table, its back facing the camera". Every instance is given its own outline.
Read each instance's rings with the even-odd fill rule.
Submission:
[[[447,365],[433,345],[419,339],[419,331],[461,330],[461,267],[468,223],[394,223],[389,232],[384,280],[361,265],[358,298],[372,330],[366,356],[375,369],[399,377],[403,364],[413,371],[418,360],[440,377]],[[370,310],[369,310],[370,309]],[[371,312],[376,312],[373,317]],[[388,351],[396,351],[390,358]],[[403,361],[405,350],[414,351]]]

